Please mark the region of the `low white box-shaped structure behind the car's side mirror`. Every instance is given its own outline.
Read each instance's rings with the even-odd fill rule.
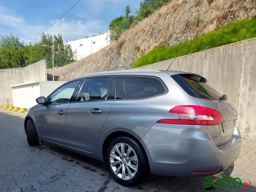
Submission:
[[[36,98],[47,97],[65,81],[38,81],[27,84],[11,85],[13,95],[13,106],[31,108],[36,105]]]

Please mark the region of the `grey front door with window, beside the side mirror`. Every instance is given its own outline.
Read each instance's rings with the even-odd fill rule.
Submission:
[[[37,113],[37,126],[40,138],[66,145],[66,112],[81,80],[73,81],[52,93]]]

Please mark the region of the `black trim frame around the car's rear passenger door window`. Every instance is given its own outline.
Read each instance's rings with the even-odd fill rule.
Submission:
[[[84,85],[84,82],[86,81],[86,79],[95,79],[95,78],[104,78],[104,77],[109,77],[110,78],[110,90],[109,90],[109,94],[113,94],[113,97],[116,98],[116,94],[115,94],[115,87],[114,87],[114,83],[115,83],[115,80],[114,80],[114,76],[94,76],[94,77],[87,77],[87,78],[84,78],[84,79],[80,79],[82,80],[82,83],[81,83],[81,87],[79,90],[76,91],[76,94],[74,95],[74,98],[73,98],[73,101],[71,103],[86,103],[86,102],[94,102],[94,101],[114,101],[115,99],[109,99],[109,100],[91,100],[91,101],[77,101],[77,97]]]

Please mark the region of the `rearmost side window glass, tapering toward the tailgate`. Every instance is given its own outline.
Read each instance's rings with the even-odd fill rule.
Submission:
[[[115,77],[116,99],[145,99],[163,94],[163,84],[152,77]]]

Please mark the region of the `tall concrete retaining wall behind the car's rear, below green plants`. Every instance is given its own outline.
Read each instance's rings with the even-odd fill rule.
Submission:
[[[137,69],[166,70],[174,59]],[[176,58],[169,70],[200,74],[238,110],[244,137],[256,137],[256,38]]]

